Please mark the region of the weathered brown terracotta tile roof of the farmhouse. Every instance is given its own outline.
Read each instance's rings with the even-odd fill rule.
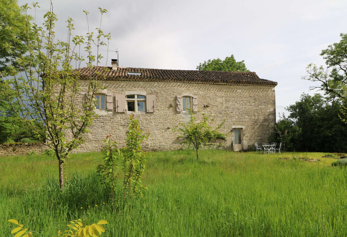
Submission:
[[[87,78],[89,68],[78,68],[81,79]],[[141,75],[128,75],[128,72],[141,72]],[[105,80],[125,80],[125,81],[181,81],[197,83],[216,84],[244,84],[244,85],[264,85],[277,86],[277,82],[261,79],[255,72],[224,72],[224,71],[197,71],[197,70],[168,70],[149,68],[122,68],[117,71],[111,67],[93,66],[91,76],[101,77],[104,74]]]

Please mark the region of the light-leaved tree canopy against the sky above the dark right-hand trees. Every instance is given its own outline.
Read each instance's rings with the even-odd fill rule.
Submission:
[[[333,43],[320,55],[325,59],[328,69],[309,64],[303,79],[319,82],[320,86],[311,89],[323,90],[331,99],[347,99],[347,34],[340,34],[341,40]],[[330,70],[329,70],[330,69]]]

